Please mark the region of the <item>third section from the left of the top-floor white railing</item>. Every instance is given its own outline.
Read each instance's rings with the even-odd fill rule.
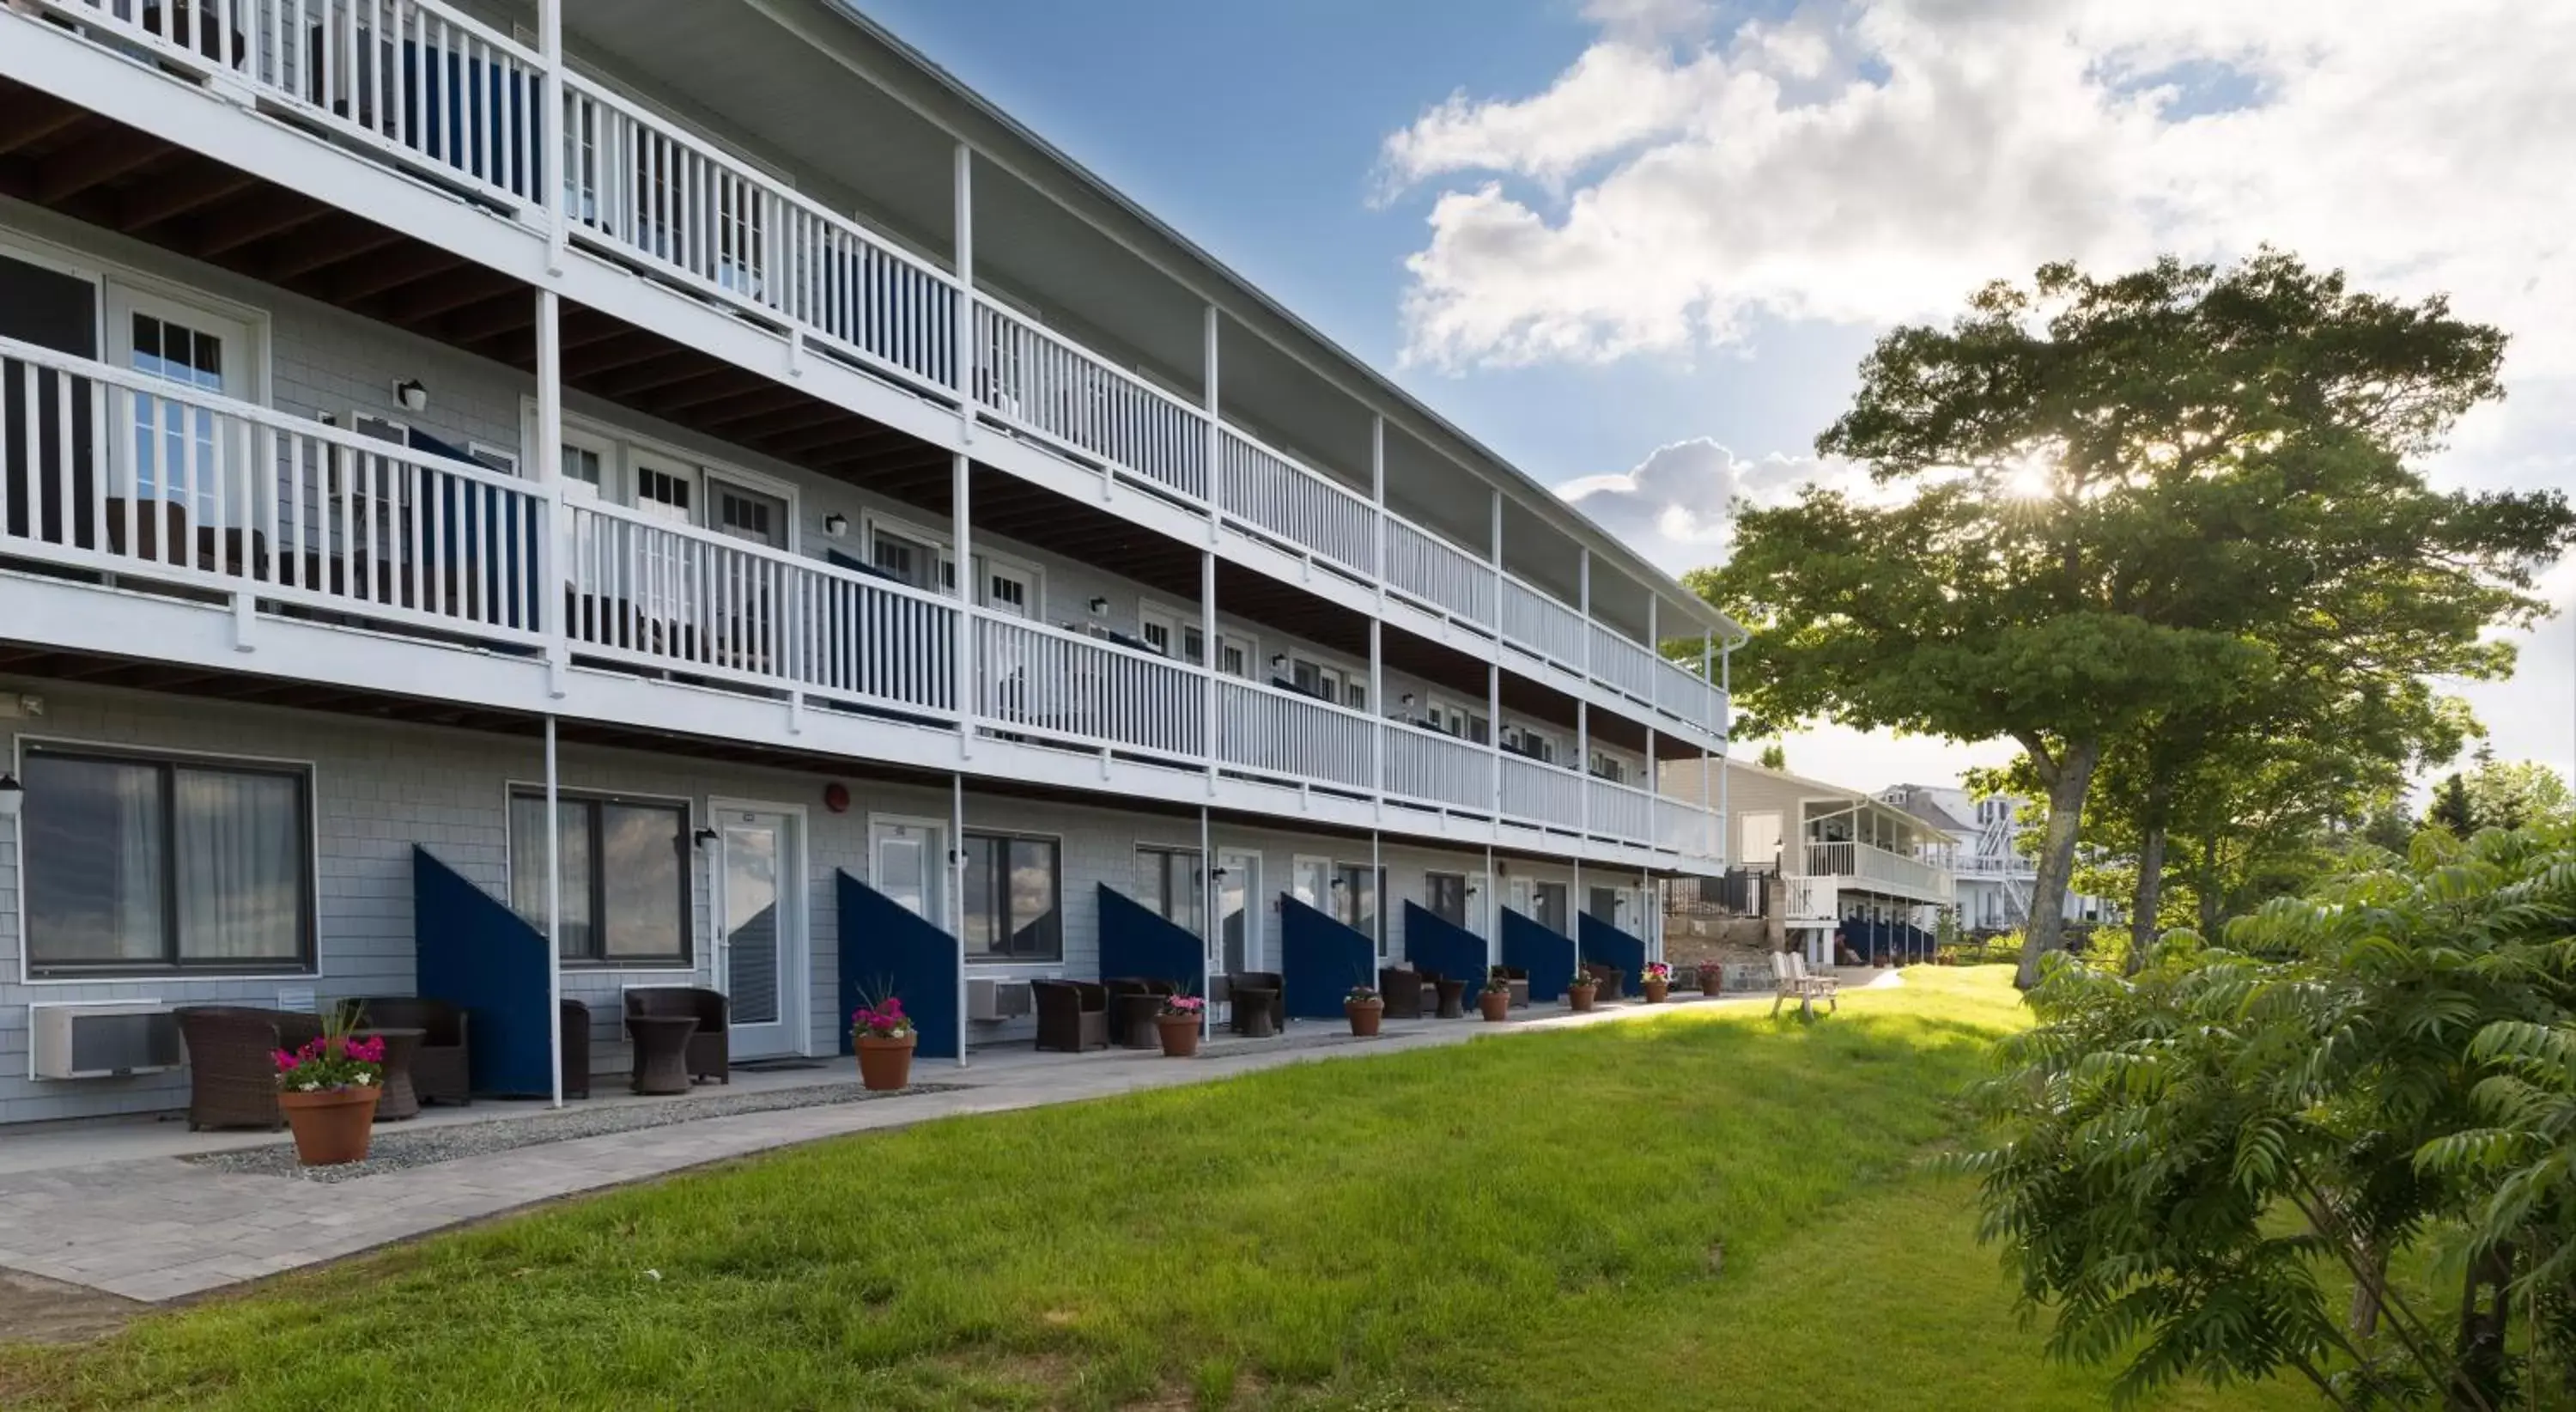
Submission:
[[[976,402],[1005,423],[1206,502],[1206,412],[984,296],[974,340]]]

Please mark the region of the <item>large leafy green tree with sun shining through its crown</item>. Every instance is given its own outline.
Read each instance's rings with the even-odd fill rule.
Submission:
[[[2439,296],[2275,250],[2045,265],[1886,335],[1816,438],[1875,492],[1744,510],[1695,585],[1754,629],[1736,680],[1762,719],[2020,742],[2048,809],[2027,987],[2117,742],[2295,670],[2293,644],[2476,644],[2540,608],[2566,500],[2445,495],[2409,466],[2501,394],[2501,353]]]

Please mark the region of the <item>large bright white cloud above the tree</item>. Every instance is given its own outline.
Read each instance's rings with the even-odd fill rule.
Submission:
[[[1391,188],[1440,186],[1409,358],[1682,353],[2269,240],[2576,376],[2576,5],[1811,0],[1716,39],[1690,10],[1597,3],[1546,90],[1386,139]]]

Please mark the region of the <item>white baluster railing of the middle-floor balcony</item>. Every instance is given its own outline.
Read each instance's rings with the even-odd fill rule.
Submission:
[[[1631,786],[5,338],[0,446],[0,562],[245,621],[319,611],[693,691],[1558,832],[1589,819],[1592,837],[1690,858],[1718,837],[1705,812]]]

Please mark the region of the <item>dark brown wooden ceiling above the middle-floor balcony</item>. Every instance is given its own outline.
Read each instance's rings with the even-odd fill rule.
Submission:
[[[0,196],[536,374],[536,294],[526,281],[10,80],[0,80]],[[562,345],[572,389],[948,515],[948,451],[927,441],[590,307],[564,304]],[[1198,603],[1190,544],[984,464],[971,495],[979,533]],[[1216,600],[1229,616],[1368,657],[1365,616],[1275,577],[1218,564]],[[1484,665],[1463,652],[1388,631],[1386,657],[1484,696]],[[1574,727],[1571,696],[1510,673],[1504,706]],[[1600,734],[1628,750],[1646,742],[1641,727],[1607,714]]]

